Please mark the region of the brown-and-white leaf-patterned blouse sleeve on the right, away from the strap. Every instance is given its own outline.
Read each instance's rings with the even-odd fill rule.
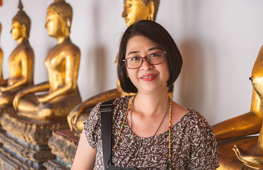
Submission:
[[[219,163],[217,161],[218,146],[213,129],[209,126],[199,135],[200,140],[195,140],[192,145],[189,169],[214,170],[219,167]]]

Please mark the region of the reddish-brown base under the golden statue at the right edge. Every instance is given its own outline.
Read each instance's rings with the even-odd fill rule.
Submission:
[[[248,136],[236,139],[219,140],[218,144],[218,162],[220,167],[217,170],[252,170],[254,168],[244,165],[235,152],[232,150],[234,145],[239,145],[250,154],[257,154],[258,136]]]

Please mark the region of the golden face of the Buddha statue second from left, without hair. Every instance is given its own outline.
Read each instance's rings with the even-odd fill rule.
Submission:
[[[46,14],[46,24],[47,34],[51,37],[63,36],[62,33],[62,21],[60,20],[58,14],[49,11]]]

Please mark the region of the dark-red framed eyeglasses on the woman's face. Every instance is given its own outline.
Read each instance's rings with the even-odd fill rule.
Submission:
[[[122,61],[125,62],[125,65],[127,66],[127,68],[137,69],[137,68],[141,67],[141,65],[143,63],[143,59],[146,59],[147,62],[150,63],[151,65],[157,65],[157,64],[163,63],[164,62],[164,53],[166,53],[166,52],[154,52],[154,53],[151,53],[151,54],[146,55],[144,57],[133,56],[131,58],[127,58],[127,59],[122,60]]]

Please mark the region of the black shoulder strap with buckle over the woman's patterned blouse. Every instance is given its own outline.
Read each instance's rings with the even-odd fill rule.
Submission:
[[[100,105],[101,136],[104,167],[108,164],[112,150],[112,111],[115,99],[103,102]]]

